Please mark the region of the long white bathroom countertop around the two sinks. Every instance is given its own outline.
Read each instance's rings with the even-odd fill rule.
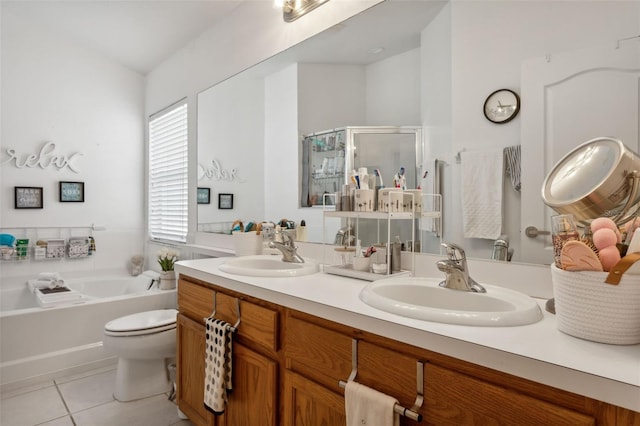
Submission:
[[[231,275],[225,261],[180,261],[176,271],[288,308],[640,412],[640,344],[607,345],[566,335],[555,316],[518,327],[440,324],[390,314],[359,298],[367,281],[316,273],[297,278]]]

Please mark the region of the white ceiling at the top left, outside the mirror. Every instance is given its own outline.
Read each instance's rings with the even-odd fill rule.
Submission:
[[[243,0],[0,0],[42,26],[147,74]]]

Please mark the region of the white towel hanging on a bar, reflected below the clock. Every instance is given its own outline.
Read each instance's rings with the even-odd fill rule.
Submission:
[[[460,155],[464,237],[495,240],[502,233],[502,150]]]

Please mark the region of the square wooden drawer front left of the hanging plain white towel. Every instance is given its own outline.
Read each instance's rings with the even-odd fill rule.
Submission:
[[[351,337],[294,315],[286,320],[286,367],[341,392],[338,382],[351,373]]]

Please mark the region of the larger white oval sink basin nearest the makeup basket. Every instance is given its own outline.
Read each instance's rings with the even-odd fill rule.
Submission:
[[[482,284],[486,293],[451,290],[436,278],[388,278],[374,281],[360,299],[374,308],[409,318],[458,325],[516,326],[542,319],[526,294]]]

